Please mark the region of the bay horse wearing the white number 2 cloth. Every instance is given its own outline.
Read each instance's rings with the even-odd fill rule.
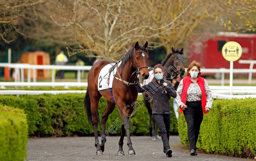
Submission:
[[[146,42],[143,46],[140,46],[139,43],[136,42],[134,47],[130,49],[125,56],[122,57],[122,63],[119,67],[117,66],[117,72],[115,75],[116,77],[113,80],[112,90],[114,99],[112,99],[109,89],[98,91],[98,77],[101,69],[105,65],[116,62],[112,60],[99,60],[91,67],[91,70],[88,73],[88,88],[84,98],[84,108],[86,110],[88,121],[92,123],[92,126],[94,128],[95,146],[97,148],[96,154],[100,155],[104,152],[106,142],[106,137],[104,137],[106,136],[106,122],[108,120],[108,115],[112,113],[115,105],[117,106],[119,114],[123,120],[121,137],[119,140],[119,150],[117,152],[117,155],[125,155],[123,152],[123,139],[125,132],[127,134],[127,145],[129,147],[128,154],[135,154],[130,138],[129,116],[131,116],[133,112],[133,102],[136,101],[138,96],[138,92],[135,87],[137,74],[141,74],[143,79],[148,79],[149,76],[147,66],[147,46],[148,42]],[[117,63],[117,65],[118,64],[119,62]],[[117,77],[119,78],[117,79]],[[102,137],[100,144],[98,140],[97,127],[99,122],[98,103],[101,96],[103,96],[107,100],[107,107],[103,111],[101,118]],[[116,101],[114,102],[114,100]]]

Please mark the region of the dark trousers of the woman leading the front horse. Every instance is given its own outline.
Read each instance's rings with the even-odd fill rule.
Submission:
[[[153,114],[153,117],[159,127],[164,149],[171,149],[169,145],[171,114]]]

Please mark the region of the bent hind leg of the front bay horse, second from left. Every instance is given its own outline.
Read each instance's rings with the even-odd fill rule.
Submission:
[[[113,110],[115,109],[115,105],[112,102],[107,101],[107,107],[105,108],[105,110],[102,113],[102,119],[101,119],[101,124],[102,124],[102,137],[101,137],[101,150],[102,152],[104,152],[104,148],[105,148],[105,142],[107,141],[106,137],[106,122],[108,120],[108,115],[111,114],[113,112]]]

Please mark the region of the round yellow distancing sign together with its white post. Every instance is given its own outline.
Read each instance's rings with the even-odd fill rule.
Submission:
[[[229,89],[230,89],[230,95],[232,95],[232,88],[233,88],[233,61],[238,60],[242,55],[242,47],[239,43],[236,43],[234,41],[227,42],[222,47],[222,56],[230,61],[230,79],[229,79]]]

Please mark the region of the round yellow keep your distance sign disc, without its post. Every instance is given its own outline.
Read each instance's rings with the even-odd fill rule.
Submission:
[[[228,61],[236,61],[242,55],[242,47],[234,41],[227,42],[222,47],[222,56]]]

